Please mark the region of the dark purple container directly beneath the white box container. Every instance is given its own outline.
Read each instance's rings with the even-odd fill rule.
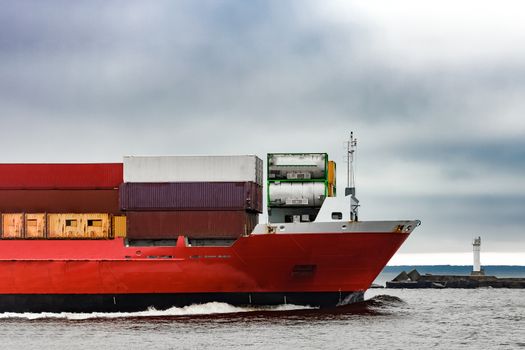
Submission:
[[[123,183],[122,210],[252,210],[262,212],[262,187],[254,182]]]

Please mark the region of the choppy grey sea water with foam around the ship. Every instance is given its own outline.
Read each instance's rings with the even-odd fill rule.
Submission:
[[[387,268],[378,280],[396,271]],[[0,349],[525,349],[523,289],[370,289],[365,299],[332,310],[209,303],[136,313],[4,313]]]

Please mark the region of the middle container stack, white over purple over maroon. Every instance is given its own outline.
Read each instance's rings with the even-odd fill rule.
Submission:
[[[237,238],[262,212],[256,156],[124,157],[120,209],[129,239]]]

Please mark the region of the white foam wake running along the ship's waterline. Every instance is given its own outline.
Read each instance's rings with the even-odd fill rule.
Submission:
[[[239,307],[226,303],[206,303],[195,304],[184,307],[172,307],[167,310],[156,310],[150,308],[146,311],[138,312],[92,312],[92,313],[75,313],[75,312],[5,312],[0,313],[0,319],[6,318],[21,318],[27,320],[36,319],[67,319],[67,320],[87,320],[94,318],[128,318],[128,317],[162,317],[162,316],[192,316],[192,315],[212,315],[212,314],[228,314],[240,312],[254,312],[254,311],[291,311],[311,309],[308,306],[299,305],[277,305],[267,307]]]

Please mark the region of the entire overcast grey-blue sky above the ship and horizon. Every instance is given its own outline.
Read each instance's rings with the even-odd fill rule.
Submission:
[[[402,253],[525,265],[521,1],[0,5],[0,162],[327,151],[343,187],[353,130],[360,218],[423,222]]]

